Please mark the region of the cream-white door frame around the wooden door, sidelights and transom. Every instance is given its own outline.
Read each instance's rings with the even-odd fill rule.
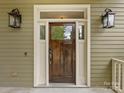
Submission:
[[[87,9],[86,15],[87,19],[40,19],[40,12],[42,11],[82,11],[84,8]],[[38,87],[40,85],[40,32],[39,24],[41,22],[45,22],[46,24],[46,69],[45,69],[45,85],[49,86],[49,60],[48,60],[48,48],[49,48],[49,22],[76,22],[76,31],[78,30],[78,21],[86,21],[87,22],[87,31],[86,31],[86,85],[90,87],[90,5],[89,4],[79,4],[79,5],[34,5],[34,87]],[[76,34],[76,45],[77,44],[77,34]],[[77,46],[76,46],[77,47]],[[78,73],[77,64],[78,64],[78,53],[76,48],[76,77]],[[77,79],[77,78],[76,78]],[[76,80],[77,81],[77,80]],[[76,82],[77,84],[77,82]]]

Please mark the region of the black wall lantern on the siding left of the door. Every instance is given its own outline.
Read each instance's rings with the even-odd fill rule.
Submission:
[[[9,15],[9,26],[12,28],[21,27],[21,14],[17,8],[13,9],[8,13]]]

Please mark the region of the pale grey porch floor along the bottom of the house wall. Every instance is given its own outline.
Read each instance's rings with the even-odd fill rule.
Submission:
[[[0,87],[0,93],[114,93],[105,88],[15,88]]]

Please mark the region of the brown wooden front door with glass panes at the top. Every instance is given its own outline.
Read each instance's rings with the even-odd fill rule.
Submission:
[[[75,82],[75,23],[49,23],[49,81]]]

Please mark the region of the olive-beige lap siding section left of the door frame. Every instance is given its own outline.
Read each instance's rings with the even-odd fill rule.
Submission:
[[[8,27],[8,12],[19,8],[22,28]],[[27,52],[27,56],[24,53]],[[33,6],[0,4],[0,86],[33,86]]]

